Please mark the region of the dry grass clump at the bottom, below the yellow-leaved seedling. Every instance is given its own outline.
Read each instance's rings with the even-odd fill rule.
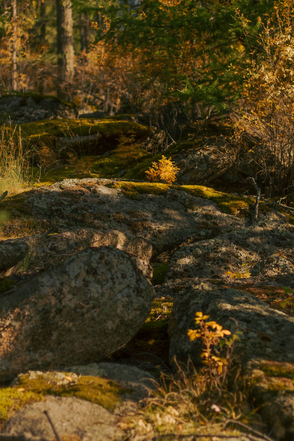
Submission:
[[[236,379],[234,368],[231,381],[211,389],[208,378],[194,366],[177,366],[177,374],[162,374],[160,381],[155,382],[154,392],[141,401],[141,412],[124,420],[124,428],[130,434],[128,439],[192,440],[197,437],[206,441],[218,439],[218,435],[238,438],[251,434],[270,440],[263,433],[265,427],[260,417],[247,404],[245,382],[242,378]]]

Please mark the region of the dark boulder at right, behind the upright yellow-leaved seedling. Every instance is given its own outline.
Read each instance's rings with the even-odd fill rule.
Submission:
[[[294,318],[272,309],[253,295],[236,289],[206,290],[190,288],[175,299],[170,319],[170,360],[187,362],[188,356],[200,363],[201,341],[191,342],[188,329],[195,329],[197,311],[209,314],[210,319],[235,332],[242,331],[235,352],[246,361],[265,358],[275,361],[294,359]]]

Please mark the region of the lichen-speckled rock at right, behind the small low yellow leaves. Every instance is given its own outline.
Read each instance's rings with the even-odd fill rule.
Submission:
[[[226,271],[243,272],[242,264],[248,263],[250,268],[254,262],[257,263],[253,275],[258,275],[264,256],[278,253],[290,244],[294,244],[293,225],[261,221],[253,227],[238,228],[179,248],[171,258],[167,280],[227,278]],[[293,251],[289,249],[288,254],[293,255]],[[271,274],[289,269],[293,273],[293,265],[286,261],[284,259],[283,269],[272,267]]]

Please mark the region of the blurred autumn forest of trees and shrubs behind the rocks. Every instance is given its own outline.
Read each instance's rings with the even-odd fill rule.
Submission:
[[[166,145],[231,121],[272,194],[293,192],[292,1],[5,0],[0,93],[132,113]],[[240,153],[241,152],[241,153]]]

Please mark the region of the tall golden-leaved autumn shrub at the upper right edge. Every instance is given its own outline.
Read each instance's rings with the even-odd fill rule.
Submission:
[[[246,30],[248,20],[239,13]],[[271,194],[288,192],[294,180],[294,5],[276,2],[253,48],[234,142],[243,160]]]

